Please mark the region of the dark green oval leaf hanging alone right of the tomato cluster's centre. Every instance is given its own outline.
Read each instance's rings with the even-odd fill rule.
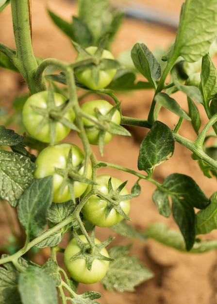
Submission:
[[[151,175],[156,166],[172,156],[174,142],[172,131],[167,125],[155,121],[140,145],[138,169]]]

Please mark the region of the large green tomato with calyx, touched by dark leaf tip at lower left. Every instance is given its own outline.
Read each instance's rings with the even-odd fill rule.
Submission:
[[[83,160],[81,149],[67,143],[47,147],[38,155],[34,176],[36,178],[53,176],[53,202],[63,203],[83,194],[87,184],[77,180],[84,173]],[[92,169],[88,164],[85,177],[91,178],[91,174]]]

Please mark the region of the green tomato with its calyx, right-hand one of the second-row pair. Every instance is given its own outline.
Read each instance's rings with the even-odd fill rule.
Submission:
[[[83,117],[85,132],[90,144],[99,145],[100,135],[103,136],[104,144],[107,144],[114,136],[109,132],[109,123],[112,121],[119,125],[121,116],[117,109],[108,115],[112,108],[112,104],[105,100],[87,101],[82,104],[83,113],[91,119]]]

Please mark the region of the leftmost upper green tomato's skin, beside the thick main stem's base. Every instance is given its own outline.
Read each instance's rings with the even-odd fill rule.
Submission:
[[[55,106],[60,106],[66,102],[66,98],[59,93],[54,94]],[[49,113],[46,114],[46,118],[42,114],[35,112],[33,106],[48,109],[48,91],[42,91],[30,96],[24,104],[22,119],[24,127],[27,132],[35,139],[50,143],[50,120]],[[73,122],[75,119],[75,113],[72,109],[64,115],[64,118]],[[43,119],[46,119],[46,123],[41,126]],[[55,121],[55,120],[54,120]],[[70,128],[65,126],[59,121],[55,121],[55,138],[54,141],[58,142],[64,139],[70,132]]]

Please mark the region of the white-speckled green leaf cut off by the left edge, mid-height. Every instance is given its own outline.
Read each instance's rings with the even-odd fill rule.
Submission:
[[[0,151],[0,198],[12,207],[33,181],[35,165],[29,157],[15,152]]]

